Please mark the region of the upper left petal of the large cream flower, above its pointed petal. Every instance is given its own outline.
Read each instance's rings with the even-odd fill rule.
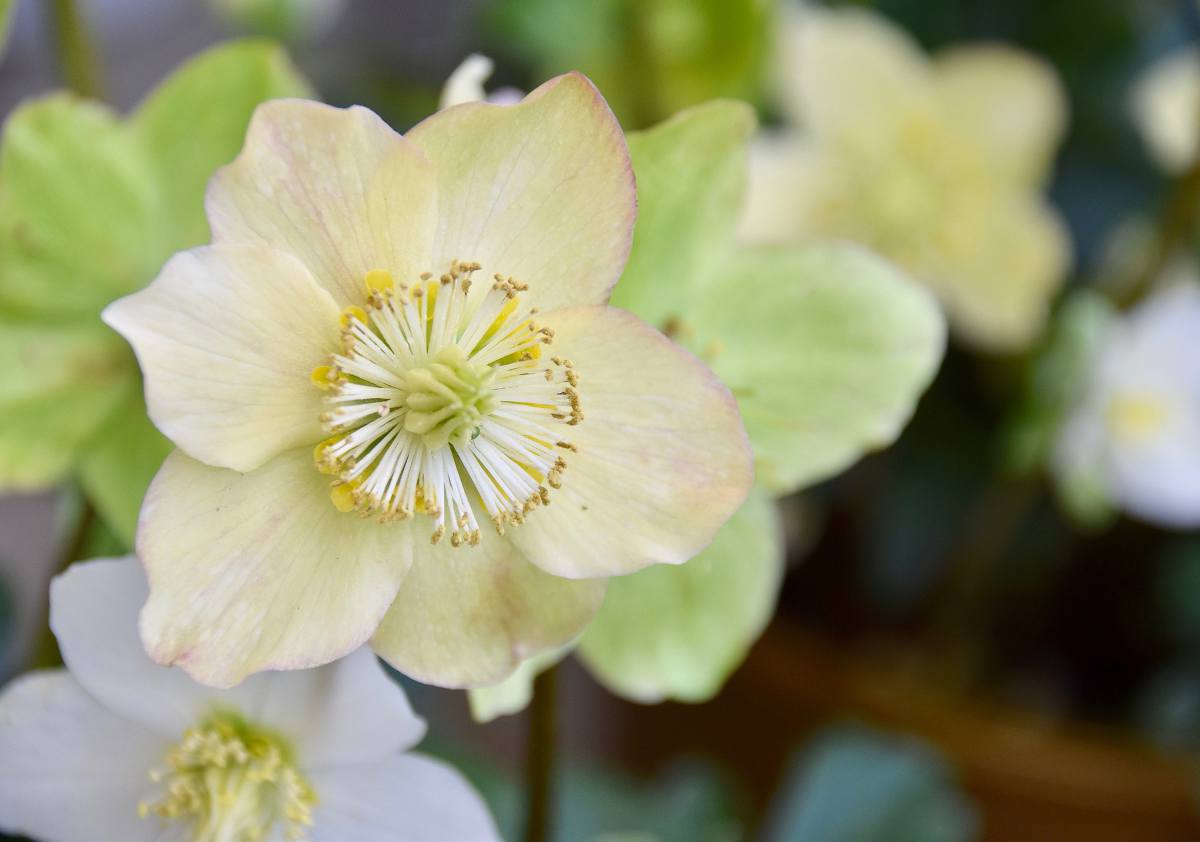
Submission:
[[[439,269],[434,191],[425,156],[366,108],[275,100],[209,182],[206,206],[214,242],[288,251],[346,306],[362,302],[373,269],[400,281]]]

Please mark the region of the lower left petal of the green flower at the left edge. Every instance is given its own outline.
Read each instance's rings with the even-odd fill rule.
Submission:
[[[0,321],[0,488],[44,488],[113,411],[133,357],[98,321]]]

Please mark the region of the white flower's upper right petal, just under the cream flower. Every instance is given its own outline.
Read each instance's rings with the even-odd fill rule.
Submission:
[[[425,736],[425,720],[366,646],[316,669],[251,675],[227,696],[312,769],[383,760]]]

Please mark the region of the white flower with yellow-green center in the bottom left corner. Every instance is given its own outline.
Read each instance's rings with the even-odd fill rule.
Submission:
[[[402,753],[425,722],[368,650],[214,691],[151,662],[137,561],[50,589],[67,669],[0,696],[0,826],[42,842],[496,840],[455,770]]]

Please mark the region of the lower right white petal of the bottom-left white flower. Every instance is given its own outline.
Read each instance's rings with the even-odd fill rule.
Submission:
[[[319,770],[312,842],[498,842],[487,806],[440,760],[402,754]]]

